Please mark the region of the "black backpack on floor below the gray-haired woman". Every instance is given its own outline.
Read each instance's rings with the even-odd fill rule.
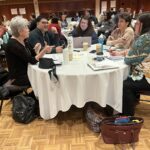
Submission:
[[[12,115],[13,119],[19,123],[30,123],[36,115],[36,101],[34,98],[17,95],[13,98]]]

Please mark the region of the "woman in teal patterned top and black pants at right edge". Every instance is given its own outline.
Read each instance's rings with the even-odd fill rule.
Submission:
[[[129,116],[134,115],[138,93],[150,91],[150,78],[145,77],[143,71],[143,62],[150,58],[150,13],[143,13],[139,16],[137,30],[140,36],[125,57],[125,63],[130,65],[131,74],[123,83],[123,115]]]

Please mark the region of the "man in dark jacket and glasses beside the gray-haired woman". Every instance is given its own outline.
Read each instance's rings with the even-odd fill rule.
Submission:
[[[52,32],[48,31],[48,20],[43,16],[39,16],[36,21],[37,28],[30,32],[28,39],[31,47],[34,48],[37,43],[41,44],[41,49],[45,47],[45,45],[51,45],[55,47],[52,48],[50,53],[61,53],[62,46],[58,46],[58,34],[53,35]]]

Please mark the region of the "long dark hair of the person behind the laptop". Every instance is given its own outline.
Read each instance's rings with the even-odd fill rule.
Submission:
[[[93,25],[92,25],[92,23],[91,23],[90,17],[87,17],[87,16],[84,16],[84,17],[82,17],[82,18],[80,19],[79,25],[78,25],[78,27],[77,27],[77,32],[78,32],[79,36],[81,36],[80,34],[83,33],[83,31],[82,31],[82,29],[81,29],[81,27],[80,27],[80,23],[81,23],[81,21],[82,21],[83,19],[88,21],[88,27],[87,27],[86,31],[84,31],[84,33],[85,33],[84,36],[91,36],[92,33],[94,32],[94,28],[93,28]]]

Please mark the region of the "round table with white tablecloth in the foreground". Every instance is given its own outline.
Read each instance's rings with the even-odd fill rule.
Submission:
[[[95,45],[89,51],[93,49]],[[54,118],[59,111],[67,111],[72,105],[84,107],[90,101],[122,112],[123,80],[128,76],[128,66],[124,60],[118,60],[116,69],[93,71],[87,63],[95,54],[89,51],[74,52],[73,61],[57,66],[57,82],[50,79],[49,69],[40,69],[38,64],[28,65],[29,80],[39,99],[43,119]],[[62,61],[63,54],[47,54],[45,57]]]

